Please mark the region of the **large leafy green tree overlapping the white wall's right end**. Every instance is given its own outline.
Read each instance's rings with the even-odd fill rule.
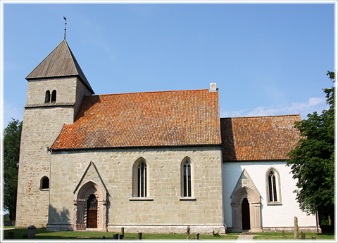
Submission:
[[[327,76],[334,81],[334,72],[327,72]],[[333,218],[334,87],[323,91],[330,108],[322,114],[308,114],[308,119],[296,122],[302,138],[289,153],[287,165],[297,180],[298,189],[294,192],[301,210],[308,214],[318,211],[320,218]]]

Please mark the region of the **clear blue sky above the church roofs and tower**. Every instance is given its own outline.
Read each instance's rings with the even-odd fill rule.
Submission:
[[[4,126],[63,40],[96,94],[208,88],[221,117],[327,108],[333,4],[4,4]]]

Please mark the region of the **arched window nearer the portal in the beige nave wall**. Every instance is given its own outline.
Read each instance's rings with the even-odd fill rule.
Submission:
[[[138,159],[133,166],[132,197],[148,196],[148,169],[143,158]]]

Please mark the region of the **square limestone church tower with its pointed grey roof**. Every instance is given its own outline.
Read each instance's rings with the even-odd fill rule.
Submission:
[[[63,124],[73,124],[84,96],[94,94],[65,40],[26,77],[16,227],[46,227],[51,152]]]

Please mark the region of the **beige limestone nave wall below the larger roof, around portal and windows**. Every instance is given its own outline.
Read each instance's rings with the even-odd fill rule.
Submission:
[[[68,150],[51,156],[49,230],[73,227],[77,190],[92,181],[108,193],[107,230],[124,226],[134,232],[158,227],[185,232],[190,225],[199,232],[225,232],[220,147]],[[141,157],[148,168],[145,200],[132,197],[132,168]],[[192,163],[189,200],[181,197],[181,163],[186,157]]]

